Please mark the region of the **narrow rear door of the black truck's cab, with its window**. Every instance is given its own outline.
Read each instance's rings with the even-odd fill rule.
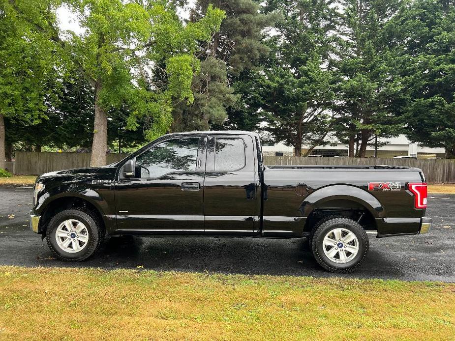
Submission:
[[[256,232],[256,163],[250,136],[209,137],[204,183],[204,219],[207,233]]]

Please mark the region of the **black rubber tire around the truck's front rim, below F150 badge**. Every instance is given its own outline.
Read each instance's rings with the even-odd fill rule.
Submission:
[[[57,243],[56,230],[68,219],[78,220],[87,227],[88,242],[79,252],[66,252]],[[46,229],[46,241],[51,251],[59,259],[65,261],[82,261],[92,256],[104,240],[104,230],[95,214],[84,209],[68,209],[57,213]]]

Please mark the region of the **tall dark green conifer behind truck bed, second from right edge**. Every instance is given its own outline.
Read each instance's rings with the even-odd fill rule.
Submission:
[[[404,85],[395,72],[391,18],[403,5],[399,0],[345,0],[341,5],[335,130],[340,141],[350,144],[351,156],[364,157],[376,135],[395,136],[402,127],[396,114]]]

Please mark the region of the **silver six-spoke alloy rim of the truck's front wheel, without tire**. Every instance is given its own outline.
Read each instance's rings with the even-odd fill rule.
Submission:
[[[79,220],[68,219],[57,227],[55,237],[61,250],[75,253],[83,250],[89,243],[89,230]]]

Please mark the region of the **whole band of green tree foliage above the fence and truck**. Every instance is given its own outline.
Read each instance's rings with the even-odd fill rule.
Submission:
[[[0,0],[7,146],[89,148],[96,103],[116,150],[229,128],[298,153],[334,131],[359,156],[404,132],[455,156],[454,0],[198,0],[188,22],[178,4]]]

